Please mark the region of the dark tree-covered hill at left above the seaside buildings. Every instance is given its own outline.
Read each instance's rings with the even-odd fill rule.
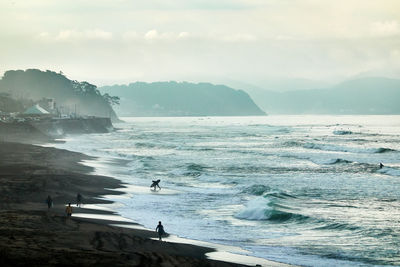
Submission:
[[[118,97],[101,94],[88,82],[69,80],[62,73],[38,69],[9,70],[0,80],[0,93],[23,100],[53,98],[62,113],[76,113],[117,120],[112,108]]]

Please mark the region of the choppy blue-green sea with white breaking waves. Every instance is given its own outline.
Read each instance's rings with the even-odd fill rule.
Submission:
[[[285,263],[400,265],[400,116],[123,120],[58,147],[127,183],[124,217]]]

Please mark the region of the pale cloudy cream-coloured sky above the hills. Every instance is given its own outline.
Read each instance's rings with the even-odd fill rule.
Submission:
[[[0,75],[135,81],[400,78],[399,0],[0,0]]]

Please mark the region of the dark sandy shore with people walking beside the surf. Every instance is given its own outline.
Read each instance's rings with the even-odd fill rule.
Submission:
[[[244,266],[207,259],[212,248],[159,242],[153,231],[65,216],[76,194],[107,203],[120,181],[88,174],[88,156],[49,147],[0,142],[1,266]],[[108,189],[105,189],[108,188]],[[51,195],[54,206],[45,203]],[[74,207],[74,213],[113,212]],[[121,222],[115,222],[120,224]],[[133,227],[134,228],[134,227]]]

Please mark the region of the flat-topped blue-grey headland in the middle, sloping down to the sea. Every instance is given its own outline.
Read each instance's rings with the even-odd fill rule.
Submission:
[[[265,115],[247,93],[224,85],[188,82],[136,82],[104,86],[120,97],[120,116],[250,116]]]

